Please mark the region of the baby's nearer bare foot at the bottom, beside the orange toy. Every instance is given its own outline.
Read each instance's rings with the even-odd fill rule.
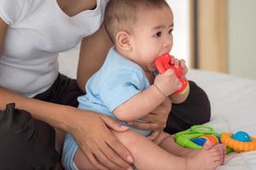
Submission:
[[[213,170],[224,161],[224,146],[217,144],[212,147],[211,143],[206,143],[202,150],[195,156],[187,158],[188,170]]]

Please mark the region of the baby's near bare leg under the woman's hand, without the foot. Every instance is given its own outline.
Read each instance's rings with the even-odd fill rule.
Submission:
[[[131,151],[134,165],[139,170],[186,169],[186,159],[173,156],[139,133],[129,130],[124,133],[113,131],[113,134]],[[76,152],[74,162],[80,170],[94,169],[80,150]]]

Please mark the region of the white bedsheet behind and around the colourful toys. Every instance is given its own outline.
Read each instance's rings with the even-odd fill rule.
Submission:
[[[218,132],[242,130],[256,137],[256,81],[211,72],[190,70],[188,78],[203,88],[211,102],[207,125]],[[256,170],[256,151],[231,153],[218,170]]]

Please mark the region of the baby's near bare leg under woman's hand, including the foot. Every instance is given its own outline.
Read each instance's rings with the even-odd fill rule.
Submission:
[[[139,133],[113,131],[113,134],[131,151],[134,165],[139,170],[212,170],[221,163],[221,156],[217,147],[201,150],[192,158],[183,158],[163,150]],[[79,169],[94,169],[80,150],[77,151],[74,161]]]

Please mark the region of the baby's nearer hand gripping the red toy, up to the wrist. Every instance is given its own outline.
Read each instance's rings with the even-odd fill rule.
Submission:
[[[168,69],[164,74],[155,77],[154,86],[159,88],[160,92],[167,97],[181,88],[182,83],[179,82],[174,71]]]

